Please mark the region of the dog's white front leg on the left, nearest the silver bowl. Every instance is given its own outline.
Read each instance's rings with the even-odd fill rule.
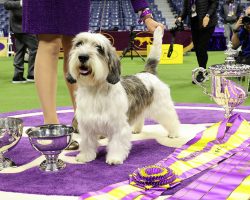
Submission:
[[[79,132],[81,136],[80,153],[76,156],[76,161],[86,163],[96,158],[97,151],[97,135],[91,131],[86,131],[79,125]]]

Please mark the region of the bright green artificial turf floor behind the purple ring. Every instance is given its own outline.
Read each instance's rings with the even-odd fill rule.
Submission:
[[[209,52],[208,66],[224,63],[225,55],[221,51]],[[46,62],[46,61],[45,61]],[[134,74],[143,70],[144,62],[139,57],[125,57],[121,60],[122,74]],[[191,83],[192,69],[197,67],[194,52],[184,56],[183,64],[159,65],[158,75],[171,88],[172,98],[182,103],[214,103],[203,93],[202,88]],[[25,65],[27,68],[27,64]],[[58,67],[57,105],[71,106],[68,91],[63,79],[62,60]],[[12,84],[13,57],[0,57],[0,113],[40,108],[33,83]],[[25,72],[25,75],[27,73]],[[250,100],[245,102],[249,105]]]

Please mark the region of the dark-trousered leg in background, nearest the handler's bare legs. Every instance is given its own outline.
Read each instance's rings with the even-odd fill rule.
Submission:
[[[36,36],[29,34],[24,34],[23,41],[27,46],[27,48],[29,49],[29,66],[28,66],[27,78],[33,78],[38,41]]]

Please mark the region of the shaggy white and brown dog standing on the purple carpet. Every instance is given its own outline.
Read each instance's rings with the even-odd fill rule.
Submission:
[[[169,137],[178,137],[180,122],[170,89],[155,75],[162,36],[158,27],[145,71],[124,77],[120,77],[115,48],[105,36],[80,33],[74,38],[69,72],[78,86],[76,118],[81,142],[77,161],[94,160],[99,135],[103,135],[109,140],[106,162],[122,164],[131,149],[132,127],[141,132],[146,117],[159,122]]]

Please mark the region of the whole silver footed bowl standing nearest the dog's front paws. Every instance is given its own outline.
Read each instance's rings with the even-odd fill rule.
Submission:
[[[46,124],[26,131],[31,145],[46,158],[39,167],[42,171],[65,168],[66,164],[58,156],[70,144],[73,131],[73,127],[63,124]]]

